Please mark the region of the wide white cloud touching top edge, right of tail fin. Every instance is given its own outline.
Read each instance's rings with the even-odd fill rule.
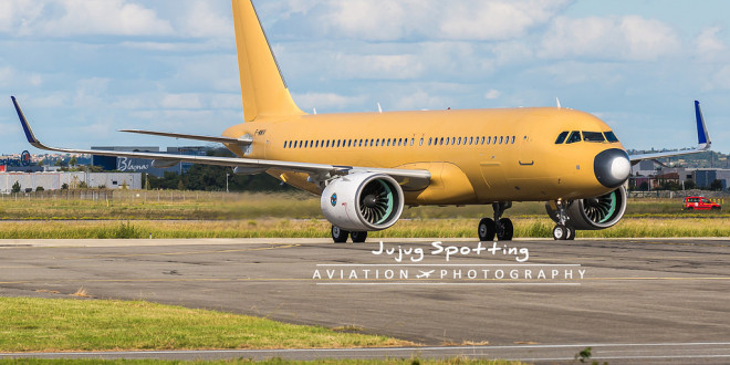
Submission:
[[[331,0],[316,20],[338,36],[374,41],[404,39],[507,40],[545,23],[569,1]]]

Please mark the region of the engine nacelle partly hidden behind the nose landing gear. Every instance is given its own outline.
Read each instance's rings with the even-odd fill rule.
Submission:
[[[567,216],[565,225],[582,230],[612,227],[624,217],[627,198],[626,189],[620,186],[618,189],[599,197],[573,200],[565,209]],[[545,205],[545,210],[548,210],[550,218],[557,222],[557,211],[550,202]]]

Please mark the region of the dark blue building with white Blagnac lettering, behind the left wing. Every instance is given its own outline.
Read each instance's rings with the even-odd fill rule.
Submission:
[[[150,146],[116,146],[116,147],[92,147],[96,150],[118,150],[118,152],[148,152],[148,153],[163,153],[170,155],[191,155],[205,156],[208,147],[205,146],[189,146],[189,147],[167,147],[167,150],[159,150],[159,147]],[[129,157],[112,157],[112,156],[92,156],[92,165],[100,166],[104,170],[123,171],[123,173],[144,173],[157,177],[163,177],[165,173],[170,171],[175,174],[187,173],[192,166],[190,163],[177,163],[170,167],[159,168],[152,166],[152,159],[146,158],[129,158]]]

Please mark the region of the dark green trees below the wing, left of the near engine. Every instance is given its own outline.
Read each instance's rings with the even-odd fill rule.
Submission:
[[[218,148],[209,150],[208,156],[232,157],[233,155],[228,149]],[[227,174],[229,191],[288,191],[294,189],[286,184],[282,185],[268,174],[236,175],[231,167],[198,164],[192,165],[182,175],[169,171],[166,171],[161,178],[146,175],[143,187],[145,189],[226,191]]]

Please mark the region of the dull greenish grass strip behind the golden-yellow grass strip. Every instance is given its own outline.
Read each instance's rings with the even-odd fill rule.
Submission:
[[[163,199],[157,200],[157,195]],[[730,199],[728,199],[730,202]],[[491,215],[490,206],[415,207],[403,218],[478,219]],[[515,202],[510,217],[544,217],[543,202]],[[720,211],[684,211],[681,198],[629,199],[626,217],[644,218],[730,218]],[[231,220],[260,218],[321,219],[320,199],[306,192],[289,194],[207,194],[195,191],[123,191],[112,201],[43,199],[0,196],[0,220]]]

